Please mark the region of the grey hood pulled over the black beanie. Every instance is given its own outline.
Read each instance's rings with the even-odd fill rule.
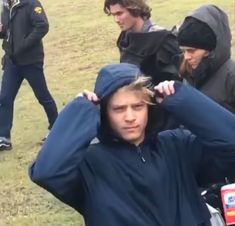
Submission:
[[[210,70],[214,72],[231,57],[232,36],[228,16],[215,5],[203,5],[188,17],[206,23],[216,36],[216,48],[209,56]]]

